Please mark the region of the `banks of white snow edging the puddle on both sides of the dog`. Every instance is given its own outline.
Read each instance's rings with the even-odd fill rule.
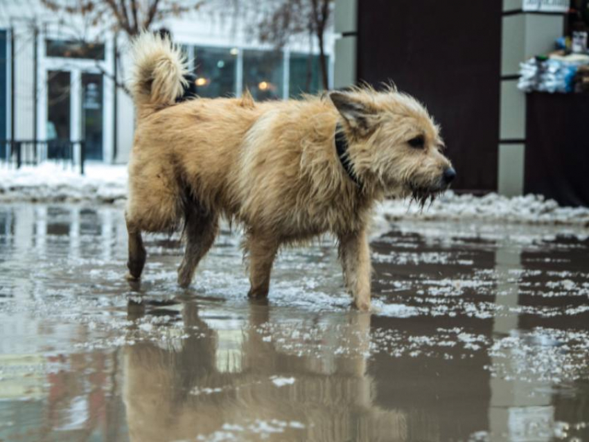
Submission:
[[[19,170],[0,166],[0,202],[95,201],[118,202],[127,193],[127,167],[87,163],[86,174],[53,163]],[[524,224],[567,224],[589,227],[589,208],[561,207],[541,195],[484,197],[446,192],[422,210],[407,200],[388,200],[378,206],[376,230],[395,220],[481,220]]]

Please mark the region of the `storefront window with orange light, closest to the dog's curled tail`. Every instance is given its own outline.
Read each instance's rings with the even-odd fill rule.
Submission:
[[[237,51],[231,48],[194,48],[197,94],[201,97],[235,95]]]

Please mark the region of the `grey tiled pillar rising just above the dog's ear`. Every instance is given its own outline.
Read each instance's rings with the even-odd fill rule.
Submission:
[[[333,88],[356,82],[356,42],[358,39],[358,0],[335,0],[335,64]]]

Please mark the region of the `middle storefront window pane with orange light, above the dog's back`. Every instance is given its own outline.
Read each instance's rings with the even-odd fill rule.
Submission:
[[[278,51],[243,51],[243,89],[255,100],[282,98],[283,54]]]

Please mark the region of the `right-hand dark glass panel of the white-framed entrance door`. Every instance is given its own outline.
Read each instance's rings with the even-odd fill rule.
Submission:
[[[82,139],[86,159],[103,159],[103,76],[82,72]]]

